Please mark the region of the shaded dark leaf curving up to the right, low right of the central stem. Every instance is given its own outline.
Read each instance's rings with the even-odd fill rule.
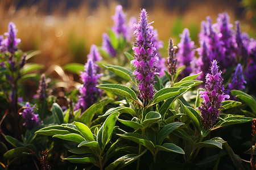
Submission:
[[[164,138],[166,138],[168,134],[170,134],[175,129],[179,128],[181,125],[185,125],[185,124],[181,122],[174,122],[164,126],[163,129],[159,131],[158,136],[156,137],[156,144],[161,145]]]

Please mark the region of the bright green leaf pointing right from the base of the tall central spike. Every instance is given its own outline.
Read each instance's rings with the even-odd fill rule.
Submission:
[[[167,87],[158,91],[154,95],[153,103],[158,103],[159,101],[169,99],[175,95],[182,94],[184,91],[188,90],[189,87]]]

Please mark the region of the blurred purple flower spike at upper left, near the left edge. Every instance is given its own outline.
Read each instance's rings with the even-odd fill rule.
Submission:
[[[16,29],[14,23],[10,22],[8,32],[5,33],[5,36],[7,36],[5,39],[5,46],[10,53],[14,53],[16,50],[18,50],[17,45],[19,44],[20,39],[16,39],[17,32],[18,29]]]

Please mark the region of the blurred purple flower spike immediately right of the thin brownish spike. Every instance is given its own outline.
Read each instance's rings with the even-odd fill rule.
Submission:
[[[195,48],[195,43],[194,41],[191,41],[191,38],[189,37],[188,28],[183,30],[183,33],[180,35],[180,37],[180,43],[177,44],[179,50],[176,56],[178,66],[186,66],[186,68],[182,71],[182,76],[185,77],[192,72],[191,61],[195,56],[195,51],[193,50],[193,48]]]

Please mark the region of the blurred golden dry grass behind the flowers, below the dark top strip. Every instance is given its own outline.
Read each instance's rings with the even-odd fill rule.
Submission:
[[[0,34],[7,32],[9,22],[14,22],[18,28],[18,37],[22,40],[20,47],[26,50],[39,49],[42,51],[34,62],[40,62],[47,67],[56,64],[64,65],[69,62],[85,62],[89,53],[90,45],[101,45],[102,33],[107,32],[113,24],[111,16],[115,13],[115,1],[109,1],[109,5],[100,3],[94,10],[90,3],[82,3],[76,9],[65,11],[65,3],[53,6],[51,15],[46,15],[46,2],[41,1],[39,5],[22,7],[18,10],[18,1],[2,0],[0,2]],[[230,1],[236,2],[236,1]],[[127,18],[135,16],[138,18],[141,1],[129,1],[128,8],[123,10]],[[166,42],[174,37],[175,42],[179,41],[177,36],[184,28],[195,28],[194,32],[200,29],[201,20],[211,16],[216,22],[218,13],[228,12],[230,22],[237,20],[234,16],[234,7],[221,5],[213,1],[191,3],[185,8],[170,10],[163,1],[154,2],[151,8],[147,9],[148,20],[155,21],[152,24],[158,29],[159,39]],[[176,29],[177,21],[182,21],[181,29]],[[242,28],[242,31],[245,29]],[[176,33],[176,35],[173,35]],[[195,33],[192,39],[197,41]],[[166,49],[167,46],[165,45]]]

